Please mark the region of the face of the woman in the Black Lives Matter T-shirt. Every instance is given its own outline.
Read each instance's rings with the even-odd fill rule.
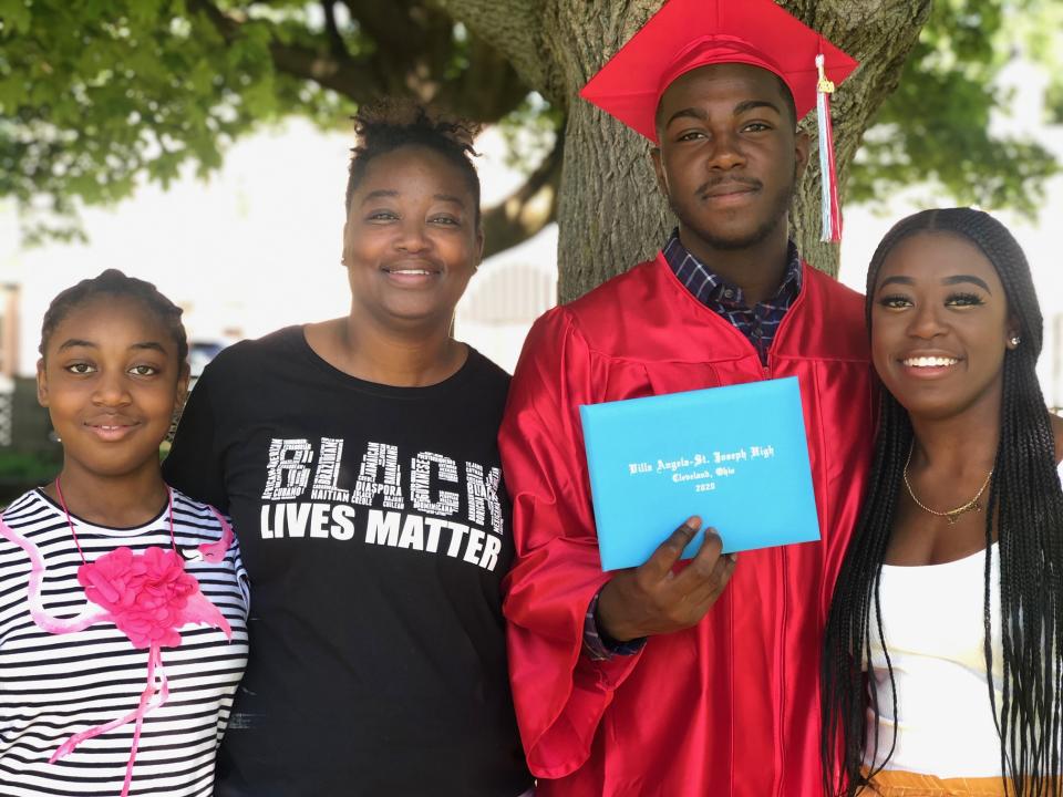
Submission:
[[[373,158],[351,199],[343,263],[354,304],[384,328],[447,329],[484,236],[465,176],[438,153]]]

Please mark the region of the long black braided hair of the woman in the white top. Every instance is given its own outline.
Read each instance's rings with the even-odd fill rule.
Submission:
[[[989,682],[989,706],[1000,732],[1001,772],[1018,797],[1063,789],[1063,489],[1056,473],[1049,412],[1034,371],[1043,340],[1041,309],[1019,244],[990,215],[971,208],[923,210],[899,221],[883,239],[867,275],[866,320],[883,262],[902,240],[921,232],[953,235],[978,247],[1004,287],[1021,344],[1003,363],[1000,442],[985,511],[984,654],[992,673],[991,615],[999,612],[1002,700]],[[871,691],[874,734],[867,738],[871,634],[885,650],[878,584],[894,525],[905,460],[912,442],[908,413],[880,392],[879,429],[867,494],[838,575],[827,619],[822,663],[824,783],[832,796],[856,795],[865,778],[865,749],[878,749],[879,706]],[[1000,555],[1000,607],[990,605],[993,520]],[[871,612],[874,611],[874,621]],[[892,666],[886,656],[896,716]],[[892,755],[896,737],[887,760]]]

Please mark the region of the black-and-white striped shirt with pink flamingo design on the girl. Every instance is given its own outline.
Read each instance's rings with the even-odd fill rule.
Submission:
[[[174,491],[174,531],[188,559],[221,537],[213,510]],[[31,490],[3,514],[0,535],[0,794],[4,797],[117,797],[125,779],[135,723],[82,742],[53,764],[49,757],[71,735],[135,712],[147,685],[148,651],[133,646],[111,621],[83,631],[49,633],[30,613],[30,559],[43,560],[41,596],[52,618],[69,619],[86,605],[78,583],[81,556],[63,510]],[[171,547],[169,518],[114,529],[73,518],[85,559],[127,546]],[[22,545],[18,545],[18,538]],[[236,541],[224,560],[197,558],[185,570],[233,629],[231,642],[208,624],[186,624],[180,644],[162,649],[168,681],[165,703],[148,711],[141,733],[130,795],[208,797],[214,758],[247,663],[247,576]],[[159,673],[156,670],[156,683]]]

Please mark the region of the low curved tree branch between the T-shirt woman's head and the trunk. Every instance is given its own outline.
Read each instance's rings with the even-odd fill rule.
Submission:
[[[484,210],[484,257],[527,240],[557,218],[557,189],[561,183],[565,135],[558,132],[554,148],[517,190]]]

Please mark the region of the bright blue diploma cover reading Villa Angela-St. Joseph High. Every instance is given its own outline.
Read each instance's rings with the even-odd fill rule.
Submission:
[[[691,515],[716,529],[724,552],[819,539],[796,376],[579,414],[602,569],[641,565]]]

